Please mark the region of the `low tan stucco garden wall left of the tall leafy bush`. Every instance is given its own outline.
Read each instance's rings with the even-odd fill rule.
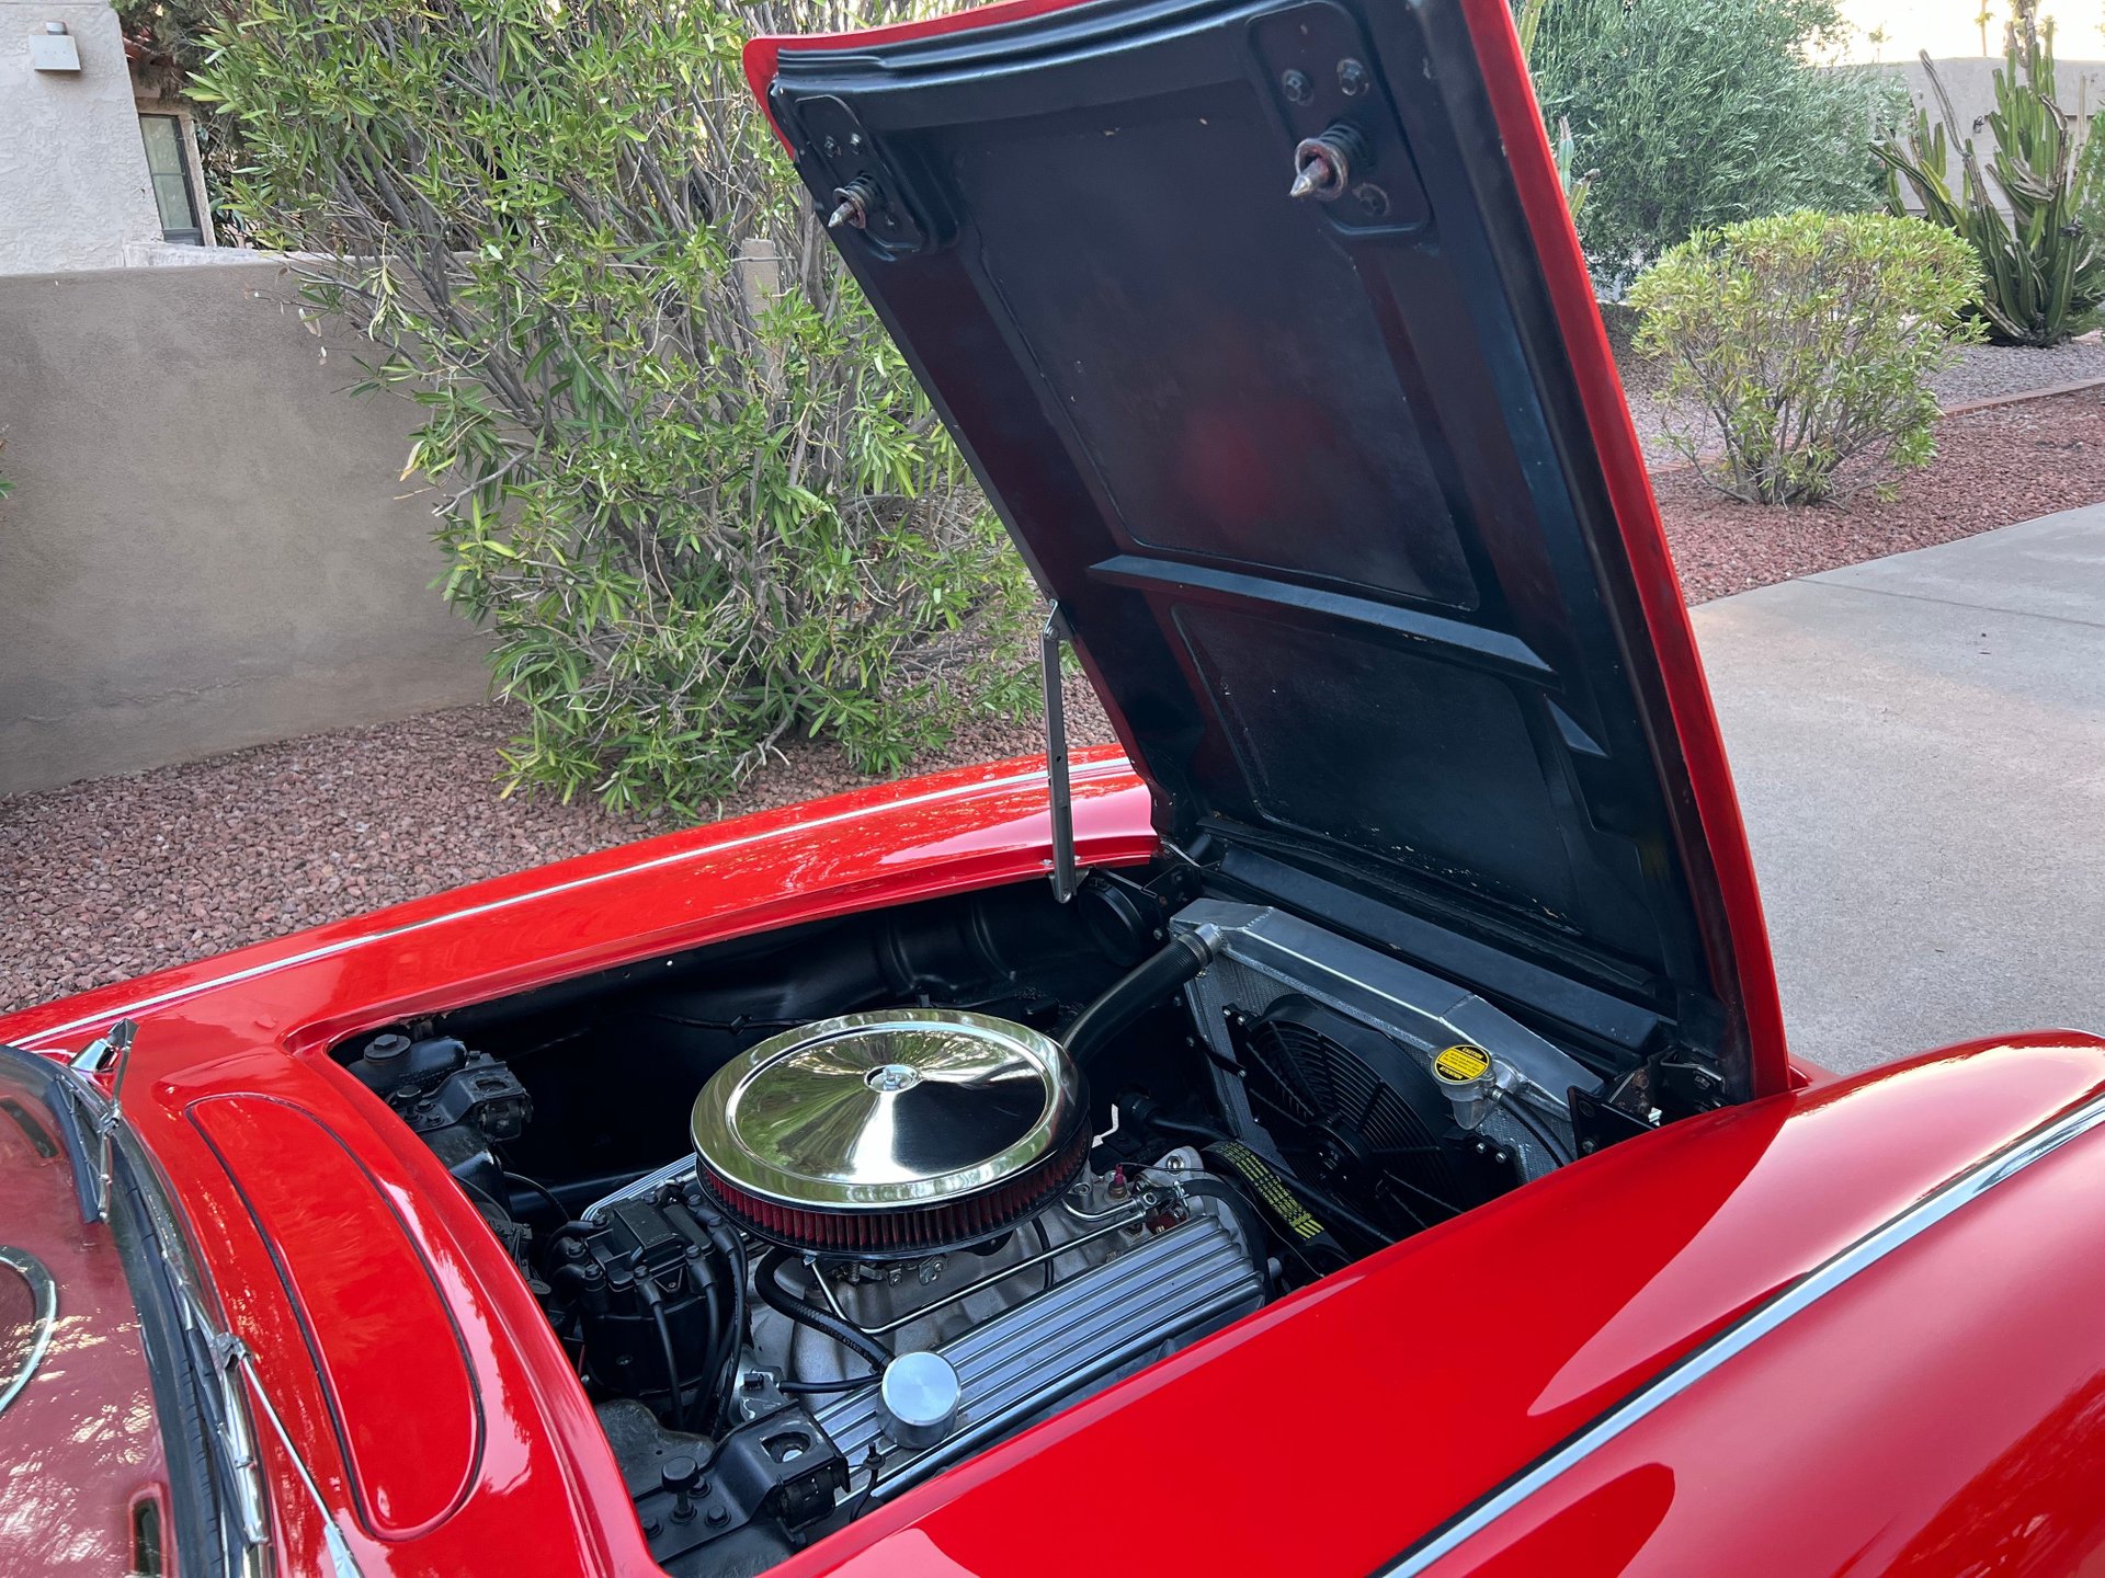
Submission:
[[[486,694],[396,480],[413,408],[343,393],[356,345],[290,295],[269,261],[0,278],[0,793]]]

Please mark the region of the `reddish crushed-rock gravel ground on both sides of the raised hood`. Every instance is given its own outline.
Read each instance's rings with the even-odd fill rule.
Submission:
[[[2099,499],[2094,391],[1945,419],[1937,463],[1892,501],[1760,509],[1688,471],[1659,478],[1690,602]],[[1107,741],[1086,686],[1067,694],[1074,743]],[[497,747],[514,728],[505,707],[467,707],[0,800],[0,1010],[663,829],[596,806],[499,800]],[[1036,722],[987,720],[924,766],[1038,745]],[[857,783],[838,751],[800,743],[724,812]]]

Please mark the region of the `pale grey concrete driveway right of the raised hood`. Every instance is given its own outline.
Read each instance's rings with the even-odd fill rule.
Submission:
[[[1695,625],[1796,1052],[2105,1031],[2105,505]]]

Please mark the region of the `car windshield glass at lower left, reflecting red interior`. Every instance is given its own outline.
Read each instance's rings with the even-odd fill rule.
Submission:
[[[128,1216],[82,1222],[53,1075],[0,1058],[0,1572],[158,1574],[168,1471]]]

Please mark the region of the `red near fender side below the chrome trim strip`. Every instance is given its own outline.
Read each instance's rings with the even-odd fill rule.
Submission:
[[[1442,1578],[2105,1572],[2105,1142],[1697,1382]]]

